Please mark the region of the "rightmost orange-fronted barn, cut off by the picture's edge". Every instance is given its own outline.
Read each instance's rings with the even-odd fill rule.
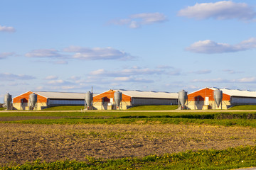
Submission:
[[[220,91],[223,91],[223,99],[220,107],[217,107],[213,95],[216,89],[206,87],[188,94],[188,109],[227,109],[235,105],[256,104],[256,91],[220,89]]]

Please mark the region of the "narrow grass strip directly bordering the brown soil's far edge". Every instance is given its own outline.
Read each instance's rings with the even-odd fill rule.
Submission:
[[[0,123],[44,124],[44,125],[78,125],[78,124],[181,124],[181,125],[223,125],[256,128],[256,120],[245,119],[193,119],[193,118],[60,118],[1,121]]]

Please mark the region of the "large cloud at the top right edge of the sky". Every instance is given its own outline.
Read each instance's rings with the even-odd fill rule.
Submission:
[[[238,20],[248,21],[255,17],[255,11],[245,3],[218,1],[188,6],[178,11],[178,16],[197,19],[215,18],[218,20],[237,18]]]

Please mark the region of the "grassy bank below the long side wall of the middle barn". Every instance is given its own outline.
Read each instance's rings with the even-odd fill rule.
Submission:
[[[164,106],[134,106],[129,108],[128,111],[171,111],[177,109],[176,105],[164,105]]]

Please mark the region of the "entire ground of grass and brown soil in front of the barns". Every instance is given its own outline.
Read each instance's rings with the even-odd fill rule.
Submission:
[[[256,111],[54,110],[0,112],[1,169],[256,166]]]

